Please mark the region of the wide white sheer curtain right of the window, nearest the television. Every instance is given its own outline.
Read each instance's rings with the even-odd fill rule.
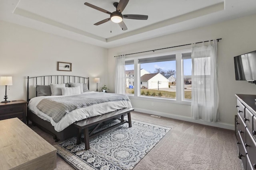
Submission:
[[[218,120],[217,41],[192,44],[192,103],[194,119]]]

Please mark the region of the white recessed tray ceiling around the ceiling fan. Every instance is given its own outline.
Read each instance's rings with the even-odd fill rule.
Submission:
[[[128,30],[122,31],[111,21],[93,25],[109,15],[84,2],[113,12],[118,1],[1,0],[0,20],[112,48],[256,13],[255,0],[130,0],[122,14],[148,15],[148,20],[124,19]]]

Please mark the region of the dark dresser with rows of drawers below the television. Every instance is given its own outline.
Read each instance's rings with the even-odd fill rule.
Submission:
[[[239,158],[245,170],[256,169],[256,95],[236,94]]]

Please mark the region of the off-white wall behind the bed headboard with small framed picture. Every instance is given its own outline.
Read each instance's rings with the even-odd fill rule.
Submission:
[[[107,49],[0,21],[0,76],[13,76],[8,100],[26,100],[26,77],[75,75],[90,77],[90,90],[96,91],[108,80]],[[72,72],[57,71],[57,62],[72,63]],[[5,86],[0,86],[0,101]]]

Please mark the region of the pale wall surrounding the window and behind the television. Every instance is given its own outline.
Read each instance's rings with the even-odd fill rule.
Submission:
[[[234,56],[256,50],[256,15],[225,21],[222,23],[182,31],[154,39],[132,43],[108,50],[108,74],[110,90],[114,91],[115,58],[118,54],[136,53],[164,47],[172,47],[188,43],[222,38],[218,42],[218,85],[220,93],[220,123],[210,125],[226,128],[234,128],[234,115],[236,115],[236,97],[234,94],[256,94],[256,85],[246,81],[236,81],[234,72]],[[165,51],[175,51],[166,49]],[[162,53],[163,51],[154,51]],[[152,54],[153,52],[144,53]],[[141,54],[140,54],[141,55]],[[128,56],[127,56],[128,57]],[[132,98],[132,105],[137,111],[158,114],[166,117],[194,121],[191,119],[190,105],[175,104],[170,102],[154,102],[142,98]],[[194,121],[209,124],[203,121]]]

